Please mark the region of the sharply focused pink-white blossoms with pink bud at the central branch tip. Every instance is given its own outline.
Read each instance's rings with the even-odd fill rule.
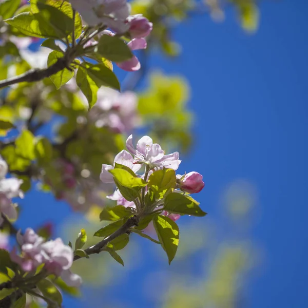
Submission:
[[[102,171],[100,179],[103,183],[114,183],[114,177],[109,172],[115,168],[116,164],[124,165],[128,167],[131,171],[136,174],[139,178],[147,181],[148,176],[154,171],[160,169],[173,169],[177,170],[181,160],[179,160],[179,152],[173,152],[169,155],[165,155],[165,151],[157,143],[153,143],[152,139],[148,136],[142,137],[138,142],[136,147],[132,143],[132,135],[130,135],[126,141],[127,150],[122,150],[114,158],[114,164],[112,165],[102,165]],[[143,175],[138,175],[137,172],[145,166],[145,173]],[[187,192],[188,194],[200,192],[204,187],[204,182],[202,181],[202,175],[198,172],[189,172],[188,174],[182,176],[176,176],[175,192]],[[145,188],[145,191],[147,188]],[[128,201],[126,200],[119,189],[116,189],[109,199],[117,201],[118,205],[123,205],[125,207],[136,208],[136,202],[139,200]],[[158,208],[162,208],[162,203],[157,203]],[[163,210],[162,215],[168,216],[172,220],[176,221],[180,218],[179,214],[168,213]]]

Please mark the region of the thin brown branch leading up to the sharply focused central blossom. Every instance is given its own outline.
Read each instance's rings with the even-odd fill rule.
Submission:
[[[134,215],[132,217],[130,217],[123,226],[121,226],[117,231],[113,232],[111,235],[109,235],[108,237],[106,237],[105,239],[103,239],[102,241],[100,241],[99,243],[85,249],[85,252],[88,255],[92,255],[92,254],[99,254],[102,250],[102,248],[104,248],[110,241],[114,240],[115,238],[119,237],[120,235],[125,234],[126,232],[128,232],[128,230],[133,227],[138,225],[139,222],[139,217]],[[80,259],[80,256],[74,256],[74,261]]]

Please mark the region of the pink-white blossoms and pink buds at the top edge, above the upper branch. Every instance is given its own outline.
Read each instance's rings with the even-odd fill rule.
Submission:
[[[126,0],[70,0],[70,3],[89,26],[102,24],[111,30],[105,30],[102,34],[123,34],[129,37],[131,41],[127,46],[131,51],[147,47],[144,37],[151,33],[153,24],[142,14],[129,15],[130,5]],[[95,41],[89,44],[94,45]],[[136,56],[117,65],[126,71],[140,69]]]

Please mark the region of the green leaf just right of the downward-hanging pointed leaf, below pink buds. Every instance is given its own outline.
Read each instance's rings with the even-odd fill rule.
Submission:
[[[104,63],[95,65],[86,64],[89,77],[98,87],[105,86],[120,91],[120,83],[117,76]]]

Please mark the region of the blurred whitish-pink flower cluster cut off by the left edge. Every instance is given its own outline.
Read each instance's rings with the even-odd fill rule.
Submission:
[[[0,225],[3,223],[5,215],[8,219],[16,219],[17,212],[15,205],[12,203],[12,198],[23,197],[23,192],[20,189],[23,180],[10,178],[6,179],[8,172],[7,163],[0,157]]]

